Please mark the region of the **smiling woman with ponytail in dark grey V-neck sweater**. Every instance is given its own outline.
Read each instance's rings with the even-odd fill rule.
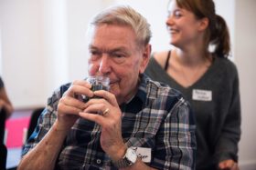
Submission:
[[[238,170],[240,87],[227,59],[229,30],[212,0],[170,0],[171,49],[155,53],[146,74],[185,95],[197,120],[197,170]],[[209,46],[213,45],[212,51]]]

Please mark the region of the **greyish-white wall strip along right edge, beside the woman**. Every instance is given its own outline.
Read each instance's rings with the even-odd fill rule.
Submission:
[[[240,74],[242,135],[240,163],[243,169],[256,169],[256,1],[237,0],[235,13],[235,63]]]

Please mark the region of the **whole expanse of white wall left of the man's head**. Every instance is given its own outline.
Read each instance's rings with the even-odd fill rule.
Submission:
[[[87,75],[85,30],[103,0],[0,0],[0,73],[16,109]]]

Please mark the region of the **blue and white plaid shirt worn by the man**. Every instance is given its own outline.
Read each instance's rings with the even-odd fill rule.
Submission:
[[[48,133],[57,118],[59,99],[69,85],[62,85],[48,99],[23,155]],[[194,117],[187,101],[176,90],[142,75],[137,94],[120,107],[123,140],[127,146],[151,149],[151,161],[147,165],[157,169],[195,168]],[[56,169],[116,169],[101,149],[100,135],[100,125],[78,119],[64,141]]]

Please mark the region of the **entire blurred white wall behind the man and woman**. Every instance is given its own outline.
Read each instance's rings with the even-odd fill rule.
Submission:
[[[153,51],[169,48],[168,0],[0,0],[0,75],[16,109],[45,105],[60,84],[87,75],[86,27],[113,4],[133,6],[152,25]],[[256,169],[253,132],[256,95],[256,1],[215,0],[231,35],[231,59],[240,74],[241,170]]]

